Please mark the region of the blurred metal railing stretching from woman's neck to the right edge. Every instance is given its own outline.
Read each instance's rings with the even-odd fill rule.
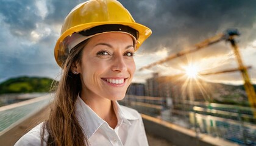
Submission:
[[[256,109],[250,107],[189,100],[176,101],[173,106],[168,106],[163,97],[132,95],[127,95],[119,103],[194,130],[197,138],[203,133],[240,145],[256,145],[256,119],[253,115]]]

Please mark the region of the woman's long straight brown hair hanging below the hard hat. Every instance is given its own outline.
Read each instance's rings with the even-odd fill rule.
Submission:
[[[82,89],[79,75],[71,72],[73,63],[81,62],[82,50],[88,40],[74,47],[62,65],[62,77],[55,92],[49,119],[43,124],[41,132],[41,145],[88,145],[82,128],[76,118],[75,103]],[[44,139],[44,133],[49,136]]]

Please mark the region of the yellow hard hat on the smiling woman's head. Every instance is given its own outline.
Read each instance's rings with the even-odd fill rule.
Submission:
[[[65,61],[70,51],[70,48],[67,48],[67,43],[71,40],[74,41],[74,38],[69,40],[66,38],[76,36],[80,32],[92,30],[99,26],[107,27],[108,32],[115,31],[115,29],[112,30],[112,28],[109,27],[115,25],[129,27],[131,29],[129,32],[133,32],[133,30],[137,32],[137,34],[133,35],[137,40],[137,47],[135,50],[137,50],[143,41],[145,41],[152,33],[151,29],[148,27],[136,23],[129,11],[116,0],[86,1],[74,7],[74,9],[69,12],[68,16],[66,16],[62,26],[61,36],[55,44],[55,60],[59,66],[62,66],[62,63]],[[99,27],[99,29],[101,30],[102,27]],[[88,38],[97,32],[102,33],[98,30],[94,30],[94,33],[88,33]],[[121,29],[119,30],[122,31]]]

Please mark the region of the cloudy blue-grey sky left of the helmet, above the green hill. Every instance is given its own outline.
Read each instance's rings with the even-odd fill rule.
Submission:
[[[38,10],[41,5],[36,2],[39,1],[1,1],[0,80],[17,75],[54,78],[59,71],[53,53],[59,32],[56,34],[52,26],[61,25],[66,14],[78,2],[46,1],[45,17],[41,16]],[[44,29],[51,30],[46,35]],[[39,40],[35,40],[32,32],[40,35]]]

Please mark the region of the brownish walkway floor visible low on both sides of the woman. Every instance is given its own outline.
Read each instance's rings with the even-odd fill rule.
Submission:
[[[18,139],[20,139],[21,136],[23,136],[27,131],[29,131],[31,128],[35,127],[38,123],[41,123],[43,120],[48,118],[50,108],[49,106],[42,109],[38,113],[36,113],[34,116],[30,117],[29,119],[24,120],[16,127],[13,127],[11,130],[7,131],[6,133],[2,134],[0,136],[0,145],[14,145]],[[148,136],[148,142],[150,146],[174,146],[170,144],[165,139],[161,139],[158,137],[155,137],[154,134],[147,133]]]

